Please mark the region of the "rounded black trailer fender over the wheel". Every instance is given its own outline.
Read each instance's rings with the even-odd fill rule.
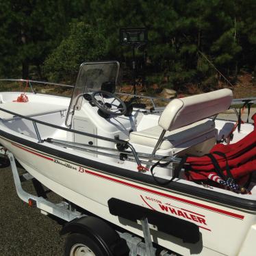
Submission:
[[[129,254],[129,247],[123,238],[120,238],[118,233],[110,227],[106,222],[93,216],[85,216],[68,222],[60,235],[66,233],[81,233],[87,235],[102,246],[106,256],[123,256]]]

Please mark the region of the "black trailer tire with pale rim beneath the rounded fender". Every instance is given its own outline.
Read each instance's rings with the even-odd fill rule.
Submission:
[[[99,243],[88,238],[87,235],[80,233],[71,233],[66,238],[64,246],[65,256],[105,256],[105,248],[99,246]]]

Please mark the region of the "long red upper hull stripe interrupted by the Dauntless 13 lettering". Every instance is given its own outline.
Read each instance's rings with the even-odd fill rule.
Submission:
[[[36,153],[34,151],[30,151],[29,149],[25,149],[23,148],[23,146],[19,146],[18,144],[16,143],[12,143],[14,144],[14,146],[18,146],[18,148],[20,149],[23,149],[29,153],[32,153],[34,155],[37,155],[39,157],[43,157],[45,159],[48,159],[50,161],[53,161],[53,158],[51,157],[47,157],[45,155],[41,155],[39,153]],[[127,181],[121,181],[119,179],[115,179],[115,178],[112,178],[112,177],[108,177],[108,176],[105,176],[105,175],[101,175],[100,173],[98,172],[92,172],[91,170],[86,170],[86,173],[90,174],[90,175],[94,175],[94,176],[97,176],[97,177],[101,177],[103,179],[108,179],[110,181],[114,181],[116,183],[121,183],[123,185],[128,185],[129,187],[131,188],[136,188],[138,190],[142,190],[142,191],[145,191],[145,192],[149,192],[149,193],[152,193],[152,194],[157,194],[159,196],[164,196],[164,197],[167,197],[169,199],[172,199],[172,200],[175,200],[175,201],[180,201],[182,203],[188,203],[190,205],[195,205],[196,207],[201,207],[203,209],[208,209],[209,211],[213,211],[213,212],[218,212],[219,214],[225,214],[227,216],[231,216],[233,218],[238,218],[240,220],[243,220],[244,219],[244,216],[240,215],[240,214],[234,214],[233,212],[228,212],[228,211],[225,211],[223,209],[218,209],[216,207],[212,207],[212,206],[209,206],[209,205],[203,205],[202,203],[196,203],[194,201],[190,201],[188,199],[182,199],[180,197],[177,197],[177,196],[172,196],[170,194],[166,194],[166,193],[163,193],[163,192],[159,192],[159,191],[156,191],[156,190],[151,190],[150,188],[144,188],[140,185],[136,185],[136,184],[132,184],[132,183],[128,183]]]

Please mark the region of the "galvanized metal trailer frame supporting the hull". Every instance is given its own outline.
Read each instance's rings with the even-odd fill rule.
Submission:
[[[19,198],[23,200],[25,203],[28,203],[29,206],[37,207],[38,209],[41,210],[41,213],[44,215],[56,216],[57,218],[65,220],[66,225],[72,223],[74,220],[76,221],[88,217],[88,215],[84,214],[83,212],[79,212],[79,210],[77,210],[77,207],[69,203],[68,201],[62,201],[60,203],[51,203],[47,199],[47,196],[46,198],[44,198],[41,195],[36,196],[23,190],[22,182],[31,181],[34,179],[34,177],[30,175],[28,172],[25,172],[23,175],[19,175],[14,155],[12,155],[12,153],[10,153],[9,151],[5,151],[3,147],[0,147],[0,153],[7,156],[10,159],[16,192]],[[42,186],[42,184],[39,183],[39,181],[38,183],[34,183],[34,186],[35,184]],[[149,224],[147,218],[142,218],[141,220],[138,220],[138,223],[142,225],[142,231],[144,235],[143,239],[131,233],[120,232],[119,230],[116,230],[116,232],[118,233],[120,238],[123,238],[127,243],[127,246],[129,247],[130,256],[154,256],[158,246],[153,245],[152,243],[150,229],[151,225]],[[163,248],[158,248],[158,252],[159,254],[157,255],[176,256],[175,253],[169,253],[169,251]]]

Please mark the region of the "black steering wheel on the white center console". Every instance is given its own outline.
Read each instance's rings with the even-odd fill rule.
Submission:
[[[107,98],[113,99],[111,102],[105,102],[105,99]],[[127,107],[121,99],[116,97],[116,95],[112,94],[111,92],[106,92],[105,90],[93,92],[92,102],[99,107],[99,110],[112,116],[122,116],[127,111]]]

